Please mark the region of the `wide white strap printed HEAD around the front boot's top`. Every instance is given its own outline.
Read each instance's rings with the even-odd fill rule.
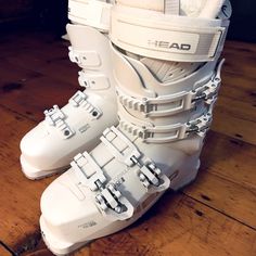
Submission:
[[[219,57],[228,21],[205,20],[116,5],[111,40],[148,57],[177,62],[208,62]]]

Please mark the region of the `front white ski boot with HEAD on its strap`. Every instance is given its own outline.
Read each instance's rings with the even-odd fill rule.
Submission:
[[[41,232],[57,255],[126,228],[167,189],[196,177],[220,86],[229,21],[215,17],[222,0],[148,1],[151,10],[117,2],[111,40],[119,126],[42,194]]]

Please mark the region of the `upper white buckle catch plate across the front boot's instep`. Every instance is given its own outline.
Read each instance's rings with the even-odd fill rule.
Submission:
[[[118,150],[115,145],[115,139],[118,138],[124,143],[124,149]],[[107,128],[103,131],[103,136],[100,138],[101,141],[106,145],[111,153],[121,163],[127,166],[132,166],[135,163],[131,161],[132,157],[140,157],[141,153],[137,150],[135,144],[127,139],[118,129],[115,127]]]

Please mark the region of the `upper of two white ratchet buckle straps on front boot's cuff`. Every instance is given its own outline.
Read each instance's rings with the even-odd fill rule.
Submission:
[[[128,92],[117,87],[117,95],[119,102],[129,110],[139,111],[145,117],[169,116],[194,107],[197,101],[205,101],[205,104],[210,105],[217,98],[221,84],[220,69],[223,64],[221,61],[216,73],[205,84],[195,87],[191,91],[181,91],[170,95],[157,98],[136,99],[129,95]]]

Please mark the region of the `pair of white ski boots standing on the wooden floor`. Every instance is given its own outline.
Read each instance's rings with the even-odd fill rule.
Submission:
[[[56,255],[126,228],[195,179],[231,15],[228,0],[69,0],[68,11],[86,90],[21,142],[29,179],[69,167],[41,197]]]

